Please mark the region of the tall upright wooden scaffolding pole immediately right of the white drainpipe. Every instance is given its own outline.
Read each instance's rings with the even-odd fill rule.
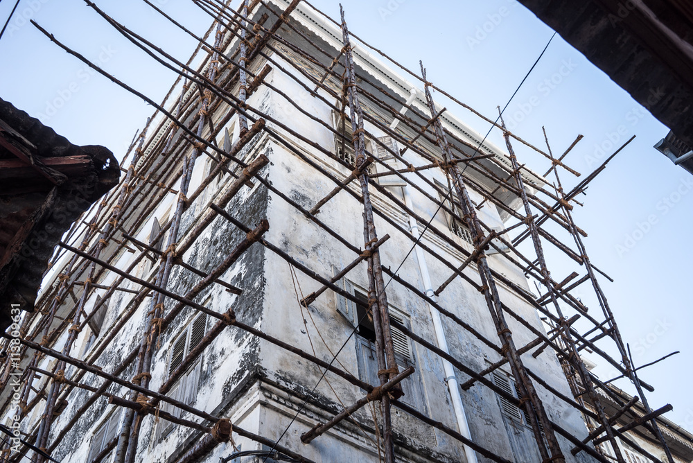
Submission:
[[[426,93],[426,103],[428,103],[428,109],[430,110],[431,117],[435,117],[435,103],[433,103],[433,98],[428,89],[429,83],[426,80],[426,69],[423,68],[423,63],[421,64],[421,74],[423,80],[426,82],[424,85],[424,91]],[[453,160],[452,152],[450,152],[450,146],[448,145],[448,140],[439,119],[433,123],[435,129],[436,139],[438,146],[441,150],[441,155],[444,158],[446,165],[446,174],[453,177],[453,184],[455,190],[457,191],[457,200],[459,202],[460,209],[462,209],[464,222],[469,228],[474,246],[479,250],[479,256],[477,257],[477,264],[479,269],[479,274],[482,281],[482,292],[484,298],[486,299],[486,305],[489,306],[489,312],[491,313],[491,318],[495,324],[496,330],[498,331],[498,337],[502,342],[502,353],[508,359],[508,364],[510,365],[513,376],[516,379],[518,389],[520,390],[520,405],[525,408],[527,416],[530,418],[532,430],[534,432],[534,439],[538,446],[539,453],[543,462],[556,462],[564,463],[565,457],[561,452],[561,447],[559,446],[556,435],[554,434],[553,427],[549,421],[549,418],[544,409],[544,405],[539,399],[536,390],[534,389],[534,384],[532,380],[529,379],[525,365],[520,358],[515,343],[512,338],[512,333],[509,326],[505,320],[505,314],[503,313],[502,305],[500,303],[500,296],[498,295],[498,288],[495,286],[495,280],[493,279],[493,274],[491,274],[491,268],[486,261],[486,252],[483,249],[479,249],[484,241],[484,231],[480,225],[480,220],[477,217],[476,209],[469,198],[469,194],[466,190],[464,184],[464,178],[462,174],[459,173],[457,169],[457,163],[450,162]],[[452,194],[452,191],[448,192]],[[543,428],[543,433],[542,433]],[[548,447],[548,449],[547,449]]]

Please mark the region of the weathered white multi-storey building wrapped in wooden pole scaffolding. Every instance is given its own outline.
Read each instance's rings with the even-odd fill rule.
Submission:
[[[250,22],[261,24],[265,17],[264,21],[271,18],[267,23],[271,24],[289,3],[272,0],[254,5],[249,12]],[[249,76],[257,80],[249,82],[246,104],[250,114],[256,110],[256,114],[267,116],[263,130],[245,132],[243,114],[224,98],[209,98],[209,109],[204,114],[198,112],[198,98],[204,93],[194,83],[177,82],[173,87],[175,99],[165,105],[191,127],[202,114],[201,137],[241,162],[226,161],[225,168],[215,170],[221,158],[210,146],[203,147],[206,153],[194,160],[186,187],[182,185],[181,173],[190,165],[186,164],[191,160],[189,153],[202,149],[200,143],[177,130],[166,117],[152,121],[146,137],[140,139],[141,148],[132,152],[134,174],[129,177],[132,183],[125,185],[130,192],[139,188],[139,195],[121,206],[116,191],[103,202],[103,209],[94,208],[84,218],[88,225],[92,219],[100,220],[99,211],[116,206],[123,209],[112,239],[103,245],[100,254],[100,259],[107,260],[112,268],[91,261],[98,270],[89,281],[89,293],[82,295],[80,288],[87,285],[84,274],[80,277],[78,272],[67,272],[66,278],[60,277],[71,265],[74,254],[56,254],[37,300],[47,304],[63,281],[81,280],[82,285],[73,284],[72,294],[55,306],[47,326],[34,317],[22,322],[21,332],[29,342],[41,343],[51,352],[62,351],[71,359],[96,365],[108,374],[116,372],[114,376],[123,381],[137,385],[144,384],[137,381],[146,381],[149,390],[165,391],[178,403],[212,417],[229,419],[235,429],[231,439],[196,453],[195,461],[288,461],[285,453],[267,453],[272,442],[277,441],[282,448],[303,455],[307,459],[304,461],[378,461],[383,452],[380,401],[369,401],[310,444],[300,439],[316,423],[328,421],[368,392],[355,381],[333,372],[325,374],[323,366],[302,353],[371,386],[378,385],[378,364],[375,326],[367,315],[372,304],[368,296],[370,270],[365,259],[349,268],[365,248],[364,209],[358,183],[347,184],[319,212],[311,211],[352,173],[356,154],[348,141],[355,131],[349,119],[342,119],[335,110],[342,102],[328,91],[342,94],[342,82],[335,76],[325,77],[322,67],[301,50],[308,49],[312,42],[330,55],[337,55],[343,46],[342,31],[305,3],[299,3],[289,17],[281,15],[281,19],[281,37],[269,37],[262,42],[263,53],[251,54],[247,62]],[[233,56],[241,40],[231,33],[224,35],[224,28],[219,30],[218,43],[225,44],[227,56]],[[255,40],[261,40],[261,30],[257,28]],[[252,49],[252,37],[247,42]],[[368,98],[362,102],[367,114],[366,149],[378,159],[368,168],[369,187],[378,236],[387,237],[378,252],[388,282],[395,358],[400,371],[414,367],[414,372],[401,383],[404,395],[393,401],[396,461],[541,462],[529,417],[517,404],[517,399],[522,403],[523,398],[507,365],[484,374],[495,387],[477,381],[462,390],[460,383],[471,378],[466,370],[453,367],[410,335],[447,350],[474,372],[484,372],[504,358],[484,292],[478,290],[484,281],[479,277],[476,262],[466,265],[466,279],[457,277],[444,291],[432,296],[432,290],[475,252],[475,244],[459,217],[461,214],[454,214],[459,198],[457,193],[451,193],[454,190],[450,188],[450,177],[439,166],[426,167],[431,158],[441,164],[446,162],[439,147],[430,134],[417,137],[411,129],[411,125],[425,125],[431,119],[425,94],[421,86],[407,81],[367,49],[355,45],[353,56],[360,91],[380,92],[379,98],[398,111],[398,115],[392,114]],[[209,55],[199,60],[201,71],[214,66]],[[325,57],[320,60],[322,64],[330,62]],[[239,94],[240,87],[245,85],[229,77],[232,67],[218,67],[218,85],[229,94]],[[324,85],[315,90],[316,81],[322,78]],[[452,114],[445,112],[438,119],[450,134],[450,143],[460,152],[471,157],[484,156],[478,161],[479,167],[464,171],[471,185],[469,195],[478,217],[489,230],[507,228],[513,214],[523,205],[518,195],[495,180],[507,177],[513,170],[509,155],[491,143],[482,143],[480,134]],[[249,125],[253,122],[249,121]],[[415,143],[419,152],[407,148],[407,143]],[[480,148],[474,150],[473,146],[479,144]],[[399,153],[401,159],[393,152]],[[253,175],[247,175],[249,166],[254,166]],[[394,175],[393,170],[402,172]],[[543,178],[531,171],[525,169],[522,175],[529,193],[544,186]],[[155,178],[159,180],[151,180]],[[486,200],[491,192],[495,202]],[[184,211],[179,216],[175,246],[171,247],[166,244],[168,234],[175,228],[176,209],[181,203]],[[212,204],[225,213],[213,209]],[[263,224],[269,228],[262,229]],[[82,233],[89,236],[87,225],[77,227],[64,241],[76,246],[76,237]],[[255,236],[239,251],[243,243],[248,244],[248,229],[258,227],[262,229],[261,238]],[[93,234],[89,239],[93,246],[103,238]],[[171,255],[176,265],[165,289],[191,299],[207,312],[166,295],[162,306],[165,316],[154,315],[157,338],[151,345],[151,368],[145,370],[149,377],[143,380],[133,352],[149,335],[152,307],[157,305],[151,303],[157,289],[143,281],[155,284],[161,265]],[[536,305],[532,304],[536,295],[529,288],[523,267],[516,265],[522,259],[494,239],[487,260],[497,278],[500,300],[510,314],[507,323],[514,342],[518,346],[532,345],[537,333],[545,331]],[[310,304],[301,303],[326,286],[324,279],[333,279],[345,268],[349,270],[344,277],[327,285]],[[223,284],[207,284],[207,275],[215,269],[220,271],[211,280]],[[392,280],[391,272],[396,274]],[[430,297],[421,297],[423,294]],[[76,301],[82,298],[86,301],[83,313],[89,320],[78,320],[81,331],[71,330],[69,325],[74,321],[70,317]],[[444,316],[440,308],[444,309]],[[220,325],[223,316],[230,313],[236,325]],[[463,329],[455,320],[463,321],[467,328]],[[239,328],[239,322],[247,328]],[[44,342],[42,333],[49,333]],[[287,344],[294,351],[288,350]],[[584,439],[588,431],[580,411],[559,396],[572,394],[556,351],[548,348],[536,357],[526,355],[527,352],[529,349],[522,356],[525,367],[551,388],[535,383],[548,418],[574,439]],[[56,365],[58,360],[51,355],[34,357],[33,351],[24,351],[19,370],[28,372],[30,366],[35,367],[30,370],[34,374],[22,376],[24,381],[31,381],[30,387],[21,392],[21,433],[26,439],[40,435],[42,426],[46,426],[42,424],[46,421],[46,391],[56,382]],[[168,381],[181,365],[185,365],[184,372],[177,374],[176,381]],[[3,370],[1,380],[5,387],[0,395],[3,424],[10,428],[10,412],[16,409],[7,385],[13,371],[11,365]],[[62,395],[44,431],[48,445],[43,447],[55,460],[116,461],[120,443],[128,439],[130,428],[125,423],[127,411],[131,410],[122,406],[118,398],[127,399],[132,388],[112,383],[105,389],[106,396],[95,394],[106,381],[112,378],[85,369],[73,360],[60,371],[57,387]],[[505,391],[506,396],[498,390]],[[108,399],[108,394],[116,398]],[[509,400],[507,395],[516,400]],[[139,397],[137,402],[140,403]],[[428,421],[398,408],[397,403],[419,412]],[[141,406],[144,410],[145,405]],[[195,421],[199,426],[172,423],[159,413]],[[159,402],[156,411],[137,414],[132,423],[139,428],[134,461],[161,463],[187,461],[186,454],[198,448],[207,435],[200,428],[210,425],[209,419],[205,421],[200,414],[166,401]],[[463,430],[464,426],[468,431]],[[239,434],[239,429],[268,441],[258,442]],[[465,448],[445,429],[466,433],[473,444],[496,457]],[[556,436],[565,461],[593,460],[585,451],[572,455],[569,450],[574,444],[563,435]],[[8,445],[4,450],[7,461],[30,461],[33,455],[26,446],[24,457],[13,453]]]

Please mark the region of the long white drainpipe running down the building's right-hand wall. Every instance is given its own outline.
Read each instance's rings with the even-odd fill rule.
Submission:
[[[403,186],[402,188],[404,190],[404,202],[407,204],[407,207],[413,211],[414,204],[412,204],[412,197],[409,194],[409,187]],[[409,216],[409,229],[412,232],[412,235],[414,235],[416,238],[419,237],[419,226],[416,225],[416,219],[412,216]],[[433,294],[433,290],[431,288],[430,274],[428,274],[428,266],[426,265],[426,256],[424,256],[421,247],[415,246],[414,249],[416,250],[416,260],[419,261],[419,270],[421,271],[423,286],[426,288],[426,295],[435,301],[435,295]],[[438,348],[445,353],[450,353],[450,351],[448,351],[448,342],[445,339],[440,313],[437,308],[432,307],[430,304],[428,304],[428,302],[426,305],[428,306],[428,310],[430,310],[431,313],[431,318],[433,319],[433,328],[435,329]],[[464,405],[462,405],[462,396],[459,395],[459,385],[457,384],[457,378],[455,377],[455,369],[453,369],[453,365],[448,362],[448,360],[442,360],[443,369],[445,372],[445,381],[448,383],[450,399],[453,400],[453,410],[455,410],[455,419],[457,419],[459,433],[471,440],[467,417],[464,413]],[[466,455],[467,463],[477,463],[476,453],[471,447],[466,445],[464,446],[464,455]]]

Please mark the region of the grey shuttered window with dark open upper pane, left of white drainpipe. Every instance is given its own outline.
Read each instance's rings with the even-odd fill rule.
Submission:
[[[336,272],[338,270],[335,269],[335,274]],[[358,376],[361,381],[370,385],[380,385],[378,360],[376,360],[376,332],[371,315],[367,315],[368,297],[366,291],[356,288],[347,279],[341,279],[335,284],[358,300],[358,302],[353,302],[346,297],[337,295],[337,311],[344,315],[352,328],[356,329],[354,339],[356,340]],[[396,320],[407,328],[411,327],[409,317],[392,306],[389,307],[389,316],[391,320]],[[392,326],[392,344],[400,371],[410,366],[414,367],[414,373],[401,382],[404,395],[398,400],[426,413],[423,383],[419,368],[414,360],[412,342],[401,330]]]

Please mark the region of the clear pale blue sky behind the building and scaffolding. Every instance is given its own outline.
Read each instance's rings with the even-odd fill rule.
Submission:
[[[210,24],[209,17],[189,1],[157,3],[197,33]],[[514,0],[343,3],[353,33],[410,69],[418,69],[423,59],[429,80],[491,119],[552,35],[550,28]],[[0,3],[3,22],[13,4],[11,0]],[[188,36],[141,0],[98,4],[180,60],[185,61],[195,48]],[[337,1],[315,0],[315,5],[333,17],[339,15]],[[121,157],[152,107],[89,73],[85,64],[51,44],[28,19],[35,19],[59,40],[101,62],[104,69],[155,101],[168,91],[173,73],[146,59],[83,1],[21,0],[0,40],[0,96],[40,116],[73,143],[104,145]],[[488,130],[488,124],[470,112],[439,94],[434,98],[477,132]],[[674,411],[666,416],[693,431],[693,403],[686,397],[693,381],[693,311],[685,295],[690,284],[686,269],[693,258],[686,238],[692,225],[693,176],[652,148],[667,128],[559,36],[514,98],[506,119],[520,137],[542,148],[544,125],[554,154],[562,153],[577,134],[584,134],[565,160],[584,175],[611,154],[614,145],[637,135],[591,184],[588,195],[579,198],[585,207],[576,208],[574,216],[589,234],[586,245],[593,262],[615,279],[615,283],[604,281],[603,286],[636,365],[681,351],[641,374],[657,389],[649,394],[651,405],[672,403]],[[490,139],[505,146],[498,130]],[[547,170],[545,159],[518,143],[515,148],[520,160],[534,171]],[[568,188],[578,182],[569,173],[561,173]],[[552,276],[560,281],[573,267],[550,245],[546,247]],[[599,312],[590,288],[584,286],[578,295],[592,313]],[[611,377],[610,369],[599,363],[599,376]],[[633,392],[629,385],[617,384]]]

